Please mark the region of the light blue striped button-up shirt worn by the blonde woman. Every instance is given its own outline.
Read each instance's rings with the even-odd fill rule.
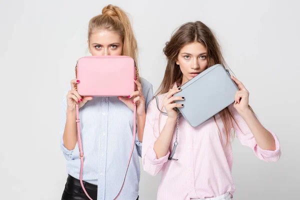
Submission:
[[[153,96],[152,85],[140,78],[146,108]],[[68,88],[70,90],[70,86]],[[79,179],[80,159],[77,143],[73,150],[63,144],[66,121],[66,93],[62,102],[60,147],[67,160],[67,173]],[[129,95],[129,94],[128,94]],[[79,109],[80,131],[84,153],[82,179],[98,185],[97,199],[113,199],[121,188],[129,158],[133,131],[133,111],[116,96],[93,97]],[[136,123],[135,123],[136,124]],[[118,199],[136,199],[141,156],[137,133],[123,190]]]

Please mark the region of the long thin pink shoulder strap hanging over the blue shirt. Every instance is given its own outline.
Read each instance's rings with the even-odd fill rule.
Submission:
[[[120,191],[118,192],[118,194],[116,195],[116,197],[114,199],[117,199],[117,197],[120,195],[124,183],[125,183],[125,179],[126,179],[126,175],[127,175],[127,171],[128,171],[128,167],[129,167],[129,163],[130,163],[130,159],[132,156],[132,152],[133,152],[133,148],[134,148],[134,143],[135,143],[135,135],[136,135],[136,122],[135,122],[135,116],[136,115],[136,105],[134,104],[134,108],[133,108],[133,137],[132,137],[132,145],[131,145],[131,151],[129,154],[129,159],[128,159],[128,164],[127,164],[127,168],[126,168],[126,173],[125,173],[125,177],[123,180],[123,184],[122,187],[120,188]],[[80,119],[79,119],[79,107],[78,104],[76,104],[76,122],[77,122],[77,143],[78,143],[78,148],[79,148],[79,157],[80,157],[80,184],[81,187],[84,191],[84,193],[86,194],[86,196],[92,200],[92,198],[87,194],[84,186],[83,186],[83,182],[82,182],[82,171],[83,171],[83,150],[82,150],[82,143],[81,143],[81,134],[80,134]]]

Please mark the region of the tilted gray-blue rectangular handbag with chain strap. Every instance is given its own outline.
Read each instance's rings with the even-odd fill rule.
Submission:
[[[184,106],[175,109],[178,113],[176,140],[169,159],[172,159],[177,145],[178,119],[180,115],[178,111],[191,126],[196,127],[233,103],[237,90],[238,87],[231,79],[229,71],[221,64],[208,67],[181,85],[181,91],[175,93],[174,96],[184,96],[184,100],[175,101],[180,104],[183,103]],[[159,109],[157,96],[155,96],[155,99]],[[162,114],[167,115],[166,112],[162,112]]]

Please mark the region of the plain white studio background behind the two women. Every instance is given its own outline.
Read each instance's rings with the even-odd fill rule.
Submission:
[[[87,52],[88,20],[104,5],[130,13],[141,75],[156,90],[164,43],[187,21],[213,29],[224,57],[250,92],[250,105],[278,137],[278,162],[257,159],[234,139],[234,199],[297,199],[299,3],[294,0],[1,0],[0,199],[60,199],[66,180],[59,147],[61,100]],[[160,176],[141,170],[140,199],[155,199]],[[109,199],[110,200],[110,199]]]

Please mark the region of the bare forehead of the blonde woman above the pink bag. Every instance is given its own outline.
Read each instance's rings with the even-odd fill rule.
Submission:
[[[90,34],[89,42],[98,43],[101,45],[108,45],[111,43],[122,43],[121,37],[117,32],[109,30],[96,30]]]

